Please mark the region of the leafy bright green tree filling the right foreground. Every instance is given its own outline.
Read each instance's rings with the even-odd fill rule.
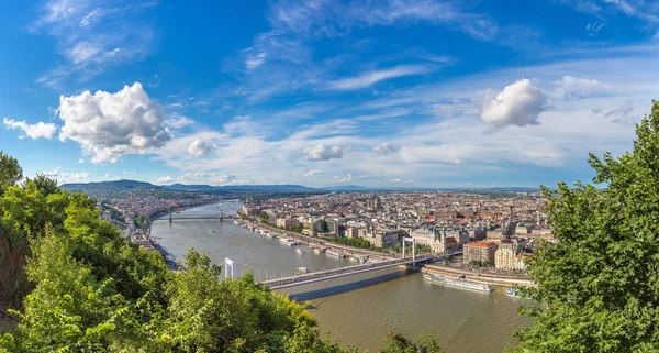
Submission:
[[[511,351],[659,352],[659,102],[630,152],[589,162],[602,188],[543,188],[557,243],[529,262],[541,305]]]

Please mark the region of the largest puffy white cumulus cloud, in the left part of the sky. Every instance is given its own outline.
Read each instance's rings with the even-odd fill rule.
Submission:
[[[144,154],[171,140],[163,108],[139,82],[116,93],[85,91],[59,97],[59,140],[76,141],[91,163],[115,163],[124,154]]]

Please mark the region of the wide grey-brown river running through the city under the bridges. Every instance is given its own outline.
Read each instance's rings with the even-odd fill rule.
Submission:
[[[174,217],[215,216],[220,211],[226,214],[239,207],[237,201],[226,201],[185,210]],[[236,263],[237,275],[252,269],[260,279],[297,274],[301,266],[322,271],[355,264],[306,249],[305,254],[298,254],[278,239],[268,239],[231,221],[169,223],[163,219],[153,223],[152,236],[179,261],[183,261],[189,247],[194,247],[208,252],[216,264],[230,257]],[[528,318],[517,315],[524,301],[505,296],[503,288],[491,294],[447,288],[400,268],[340,277],[281,293],[308,301],[323,333],[330,332],[344,345],[371,352],[377,352],[391,329],[414,339],[435,333],[448,353],[502,352],[514,344],[511,332],[530,323]]]

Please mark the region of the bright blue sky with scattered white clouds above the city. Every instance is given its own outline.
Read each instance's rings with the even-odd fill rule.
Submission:
[[[60,183],[590,180],[659,99],[659,1],[10,1],[0,150]]]

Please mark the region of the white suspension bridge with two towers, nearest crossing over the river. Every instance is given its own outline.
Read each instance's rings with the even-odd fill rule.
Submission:
[[[371,271],[376,271],[376,269],[389,268],[389,267],[401,266],[401,265],[414,265],[416,263],[427,263],[427,262],[434,262],[435,260],[437,260],[437,256],[435,254],[418,254],[417,255],[416,254],[416,240],[413,238],[404,238],[400,242],[394,244],[393,246],[396,246],[400,243],[402,243],[402,245],[403,245],[402,250],[401,250],[402,255],[400,258],[392,258],[392,260],[387,260],[387,261],[381,261],[381,262],[373,262],[373,263],[367,263],[367,264],[360,264],[360,265],[354,265],[354,266],[345,266],[345,267],[338,267],[338,268],[333,268],[333,269],[327,269],[327,271],[312,272],[312,273],[298,274],[298,275],[290,275],[290,274],[284,275],[283,272],[280,272],[281,277],[279,277],[279,278],[276,278],[276,273],[277,273],[276,271],[272,271],[272,278],[268,278],[268,269],[266,269],[266,279],[265,280],[263,280],[260,278],[260,268],[258,268],[259,273],[257,276],[257,282],[263,285],[266,285],[270,289],[281,289],[281,288],[289,288],[289,287],[293,287],[293,286],[316,283],[316,282],[321,282],[321,280],[327,280],[327,279],[332,279],[332,278],[338,278],[338,277],[350,276],[350,275],[355,275],[355,274],[361,274],[361,273],[371,272]],[[412,243],[412,256],[407,256],[407,257],[404,256],[405,255],[405,243]],[[390,247],[393,247],[393,246],[390,246]],[[235,279],[235,277],[236,277],[236,267],[237,266],[239,266],[239,265],[244,266],[243,273],[245,272],[244,271],[245,266],[248,266],[246,264],[237,264],[230,258],[225,258],[221,265],[224,265],[224,277],[233,278],[233,279]],[[252,266],[248,266],[248,268],[254,269]]]

